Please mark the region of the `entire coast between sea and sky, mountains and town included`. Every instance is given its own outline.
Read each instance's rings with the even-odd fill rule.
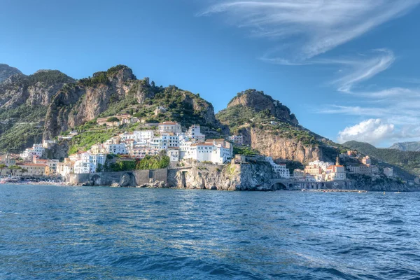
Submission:
[[[262,91],[239,92],[215,114],[200,94],[137,79],[125,65],[80,80],[57,70],[26,76],[4,67],[3,183],[219,190],[419,188],[417,154],[409,155],[410,164],[400,164],[402,157],[391,158],[393,162],[369,157],[360,151],[360,143],[336,144],[302,127],[287,106]]]

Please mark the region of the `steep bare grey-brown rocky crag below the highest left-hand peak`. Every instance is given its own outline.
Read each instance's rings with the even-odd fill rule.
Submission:
[[[99,80],[104,75],[104,80]],[[148,78],[137,80],[132,69],[121,66],[111,73],[94,73],[93,78],[67,85],[52,99],[45,119],[43,139],[52,139],[69,127],[82,125],[109,109],[113,102],[131,97],[141,104],[153,97]]]

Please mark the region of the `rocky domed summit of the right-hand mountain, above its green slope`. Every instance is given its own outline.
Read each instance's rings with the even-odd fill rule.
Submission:
[[[228,108],[232,106],[245,106],[255,109],[255,111],[268,110],[275,118],[287,121],[297,125],[299,122],[290,109],[284,106],[278,100],[274,100],[269,95],[258,90],[246,90],[239,92],[228,104]]]

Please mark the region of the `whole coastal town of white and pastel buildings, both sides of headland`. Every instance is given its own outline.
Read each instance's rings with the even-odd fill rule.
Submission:
[[[97,125],[115,127],[137,123],[139,120],[129,114],[98,118]],[[191,125],[183,131],[181,125],[172,121],[141,126],[141,130],[122,132],[103,143],[92,145],[87,151],[78,151],[59,161],[48,159],[48,149],[59,141],[68,141],[78,135],[71,131],[55,140],[44,140],[34,144],[19,155],[0,155],[0,176],[3,180],[20,180],[25,176],[42,176],[43,180],[66,181],[69,174],[93,174],[109,171],[109,165],[116,162],[136,162],[146,157],[167,155],[170,167],[188,166],[198,163],[226,165],[237,162],[241,155],[234,155],[234,146],[244,146],[241,135],[230,135],[226,139],[209,139],[202,133],[200,125]],[[393,169],[379,169],[372,165],[369,156],[356,151],[340,154],[336,162],[316,160],[308,162],[302,169],[290,171],[286,160],[260,157],[269,163],[276,178],[304,182],[343,181],[351,174],[371,177],[395,177]],[[283,161],[283,162],[282,162]],[[340,162],[346,162],[346,165]]]

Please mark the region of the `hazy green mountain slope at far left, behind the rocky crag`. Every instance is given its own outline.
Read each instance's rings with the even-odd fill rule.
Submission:
[[[74,81],[60,71],[40,70],[15,73],[0,83],[0,151],[18,153],[39,143],[52,96]]]

